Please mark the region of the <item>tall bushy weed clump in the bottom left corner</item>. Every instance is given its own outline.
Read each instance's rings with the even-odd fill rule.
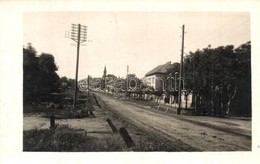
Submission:
[[[24,151],[73,151],[90,142],[79,130],[61,125],[55,130],[30,130],[24,132]]]

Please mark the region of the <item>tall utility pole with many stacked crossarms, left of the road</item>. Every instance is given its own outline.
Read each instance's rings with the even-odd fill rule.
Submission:
[[[81,26],[80,24],[72,24],[71,39],[77,43],[77,60],[76,60],[76,75],[75,75],[73,107],[76,107],[76,102],[77,102],[79,48],[81,43],[87,41],[86,37],[87,37],[87,26]]]

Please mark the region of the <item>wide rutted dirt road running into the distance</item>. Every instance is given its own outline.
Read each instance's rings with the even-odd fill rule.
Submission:
[[[180,151],[251,150],[251,121],[165,115],[110,95],[95,95],[105,108]]]

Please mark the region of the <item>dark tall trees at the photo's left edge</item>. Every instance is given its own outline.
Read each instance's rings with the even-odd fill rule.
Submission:
[[[49,93],[58,91],[58,67],[53,55],[42,53],[39,56],[29,43],[23,48],[23,98],[24,102],[42,101]]]

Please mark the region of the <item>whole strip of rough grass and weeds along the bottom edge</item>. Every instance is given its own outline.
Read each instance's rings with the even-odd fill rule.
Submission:
[[[166,142],[150,136],[140,136],[133,151],[176,151]],[[119,134],[104,134],[102,138],[87,135],[84,129],[60,125],[57,129],[33,129],[23,133],[23,151],[104,152],[129,151]]]

